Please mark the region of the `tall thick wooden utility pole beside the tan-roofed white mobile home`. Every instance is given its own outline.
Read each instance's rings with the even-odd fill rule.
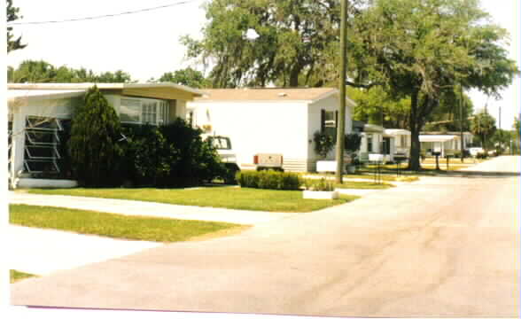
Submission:
[[[342,0],[340,7],[340,110],[338,112],[337,127],[337,173],[335,180],[342,183],[342,175],[344,173],[344,141],[346,139],[346,36],[347,36],[347,0]]]

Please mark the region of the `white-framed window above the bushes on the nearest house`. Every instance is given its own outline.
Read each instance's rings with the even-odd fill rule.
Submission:
[[[165,100],[152,98],[121,98],[121,123],[167,124],[169,105]]]

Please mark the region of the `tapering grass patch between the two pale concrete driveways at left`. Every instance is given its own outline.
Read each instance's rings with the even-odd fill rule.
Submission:
[[[154,242],[183,241],[245,227],[228,222],[126,216],[50,206],[10,205],[9,208],[9,222],[16,225]]]

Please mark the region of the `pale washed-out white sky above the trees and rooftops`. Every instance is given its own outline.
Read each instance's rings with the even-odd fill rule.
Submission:
[[[133,79],[146,82],[151,77],[188,66],[184,47],[178,40],[181,35],[201,36],[200,29],[206,22],[201,4],[205,0],[13,1],[26,22],[84,18],[185,1],[190,2],[113,18],[14,26],[15,35],[22,35],[28,46],[11,52],[7,64],[16,67],[25,59],[43,59],[54,66],[83,66],[95,72],[121,69]],[[521,57],[520,3],[519,0],[481,0],[494,22],[509,31],[509,57],[517,61]],[[488,100],[488,111],[496,119],[502,107],[502,128],[511,128],[514,116],[521,112],[520,90],[521,79],[517,78],[502,93],[502,100]],[[486,104],[486,97],[479,92],[470,92],[470,97],[475,109]]]

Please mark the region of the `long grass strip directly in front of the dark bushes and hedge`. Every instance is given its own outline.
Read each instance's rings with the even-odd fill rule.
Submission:
[[[37,194],[59,194],[96,198],[119,198],[152,201],[186,206],[211,206],[231,209],[307,213],[336,206],[358,197],[343,195],[335,200],[303,199],[301,191],[256,190],[237,187],[209,187],[201,189],[60,189],[30,190]]]

